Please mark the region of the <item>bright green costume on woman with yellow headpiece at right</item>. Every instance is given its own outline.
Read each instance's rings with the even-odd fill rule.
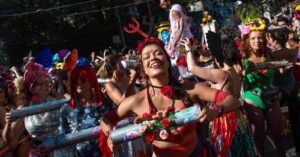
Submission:
[[[269,61],[267,58],[266,61]],[[251,61],[249,59],[245,60],[245,68],[247,69],[250,66]],[[260,109],[267,111],[270,106],[266,105],[260,95],[263,91],[270,88],[273,81],[273,69],[268,69],[266,74],[263,74],[259,71],[254,71],[246,74],[244,79],[245,84],[245,93],[244,97],[253,101]]]

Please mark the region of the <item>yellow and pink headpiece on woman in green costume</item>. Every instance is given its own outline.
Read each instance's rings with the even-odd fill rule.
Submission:
[[[241,26],[242,36],[248,35],[251,31],[264,31],[266,30],[266,21],[260,18],[247,17]]]

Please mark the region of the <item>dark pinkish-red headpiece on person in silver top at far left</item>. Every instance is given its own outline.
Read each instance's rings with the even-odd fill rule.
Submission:
[[[35,81],[41,76],[49,76],[47,70],[38,63],[29,62],[24,67],[24,85],[32,92],[32,87]]]

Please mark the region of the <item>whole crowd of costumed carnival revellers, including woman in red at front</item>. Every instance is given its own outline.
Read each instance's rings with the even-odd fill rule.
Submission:
[[[276,23],[253,18],[240,30],[209,31],[207,45],[197,45],[183,7],[171,0],[160,5],[170,10],[167,43],[150,37],[134,54],[105,50],[90,59],[63,50],[50,67],[34,57],[22,67],[2,65],[0,156],[263,157],[270,136],[284,157],[285,129],[300,156],[297,9]],[[10,112],[63,98],[70,101],[58,110],[20,119]],[[176,126],[174,114],[193,106],[201,108],[199,120]],[[288,122],[282,106],[288,106]],[[111,132],[129,124],[143,124],[142,136],[115,143]],[[54,150],[42,146],[49,137],[97,126],[99,138]]]

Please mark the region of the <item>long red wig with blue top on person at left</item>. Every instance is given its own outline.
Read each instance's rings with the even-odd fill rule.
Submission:
[[[78,79],[86,78],[92,87],[93,97],[95,103],[98,105],[102,105],[104,101],[104,97],[102,92],[100,91],[99,84],[96,78],[96,73],[91,67],[91,63],[86,58],[80,58],[75,67],[72,69],[70,74],[70,81],[71,81],[71,106],[76,106],[76,83]]]

